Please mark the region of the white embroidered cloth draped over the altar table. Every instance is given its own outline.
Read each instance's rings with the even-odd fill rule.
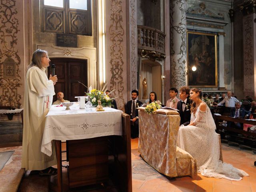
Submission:
[[[66,107],[52,105],[46,115],[41,152],[52,155],[52,140],[78,140],[109,135],[122,135],[122,111],[104,107],[97,112],[79,109],[77,103]]]

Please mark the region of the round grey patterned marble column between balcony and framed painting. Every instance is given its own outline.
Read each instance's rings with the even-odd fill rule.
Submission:
[[[187,83],[186,2],[170,1],[170,76],[171,87]]]

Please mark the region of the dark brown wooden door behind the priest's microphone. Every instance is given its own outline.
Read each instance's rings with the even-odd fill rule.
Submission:
[[[63,92],[64,99],[70,102],[77,101],[75,96],[83,96],[87,91],[82,82],[87,86],[87,60],[50,58],[51,64],[55,64],[55,74],[58,82],[54,86],[55,93]],[[48,76],[52,74],[52,68],[48,68]],[[53,101],[57,100],[56,95]]]

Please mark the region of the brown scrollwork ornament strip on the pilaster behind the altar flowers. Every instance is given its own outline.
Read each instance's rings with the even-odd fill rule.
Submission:
[[[110,0],[111,15],[110,15],[110,89],[115,89],[113,93],[117,98],[118,109],[124,110],[124,79],[123,79],[123,52],[124,48],[122,43],[124,42],[124,21],[122,17],[122,1]]]

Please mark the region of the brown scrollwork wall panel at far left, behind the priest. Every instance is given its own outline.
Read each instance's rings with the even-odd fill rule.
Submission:
[[[0,106],[21,105],[20,56],[16,49],[19,20],[16,0],[0,1]]]

